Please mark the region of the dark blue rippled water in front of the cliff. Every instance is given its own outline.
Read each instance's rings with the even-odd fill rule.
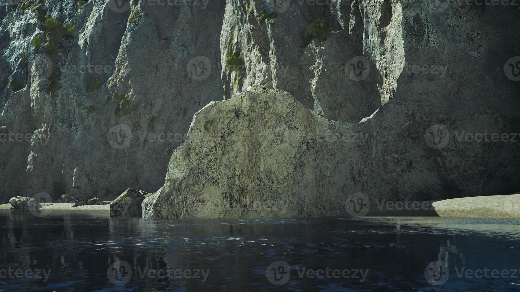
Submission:
[[[442,218],[152,221],[59,211],[39,218],[3,210],[0,290],[518,291],[520,275],[513,272],[520,269],[519,223]],[[425,276],[428,265],[438,260],[447,267],[436,266],[431,271],[440,273]],[[275,261],[290,267],[271,265]],[[6,272],[9,267],[33,275],[47,270],[48,277],[43,272],[40,279],[16,276]],[[465,274],[486,268],[508,275]],[[309,269],[322,269],[321,279],[307,274]],[[271,284],[281,284],[275,277],[286,283]]]

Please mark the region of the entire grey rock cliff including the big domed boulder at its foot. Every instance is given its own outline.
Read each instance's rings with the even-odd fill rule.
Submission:
[[[0,134],[27,135],[1,143],[4,200],[160,188],[145,217],[287,217],[520,187],[518,7],[160,3],[0,7]]]

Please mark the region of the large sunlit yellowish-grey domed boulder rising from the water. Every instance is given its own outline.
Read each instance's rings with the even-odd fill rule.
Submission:
[[[339,139],[336,140],[336,135]],[[365,171],[353,124],[327,120],[291,94],[259,86],[194,117],[146,218],[314,217],[341,214]],[[359,143],[361,143],[359,138]]]

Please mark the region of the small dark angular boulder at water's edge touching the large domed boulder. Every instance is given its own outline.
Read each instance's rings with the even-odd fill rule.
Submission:
[[[111,218],[141,217],[141,203],[145,196],[137,190],[128,188],[110,203]]]

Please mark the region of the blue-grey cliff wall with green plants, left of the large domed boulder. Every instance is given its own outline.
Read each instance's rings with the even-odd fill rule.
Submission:
[[[135,8],[132,1],[116,9],[115,1],[90,0],[74,13],[76,2],[44,2],[49,16],[75,27],[53,55],[36,54],[31,46],[33,37],[46,34],[35,12],[21,4],[0,6],[0,134],[29,134],[22,142],[1,143],[0,198],[157,190],[193,114],[223,99],[216,60],[224,1],[205,9],[144,2]],[[215,61],[201,81],[186,69],[199,55]],[[32,66],[38,56],[45,62]],[[46,74],[49,64],[58,76]],[[95,66],[103,68],[99,74]],[[51,81],[61,87],[54,93],[47,92]],[[120,124],[129,131],[113,128]]]

